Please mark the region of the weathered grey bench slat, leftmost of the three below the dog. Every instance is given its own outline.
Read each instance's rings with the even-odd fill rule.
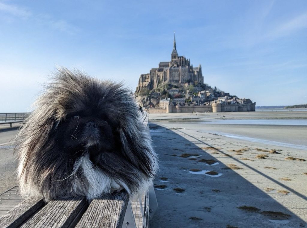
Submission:
[[[17,227],[44,205],[43,199],[29,197],[1,216],[0,227]]]

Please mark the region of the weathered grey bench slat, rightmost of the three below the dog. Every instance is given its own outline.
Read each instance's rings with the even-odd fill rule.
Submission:
[[[126,191],[93,199],[76,227],[122,227],[128,201]]]

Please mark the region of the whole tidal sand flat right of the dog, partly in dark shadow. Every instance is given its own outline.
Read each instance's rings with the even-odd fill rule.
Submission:
[[[197,121],[216,118],[216,114],[207,114]],[[248,113],[219,113],[228,114],[238,119],[293,117],[287,112],[254,112],[251,117]],[[297,114],[293,118],[307,116],[305,112]],[[307,150],[215,133],[306,145],[307,127],[189,120],[197,116],[150,114],[161,167],[154,182],[159,210],[151,227],[307,227]],[[174,118],[177,120],[170,120]]]

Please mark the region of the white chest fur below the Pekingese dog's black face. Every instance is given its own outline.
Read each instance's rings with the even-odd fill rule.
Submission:
[[[130,189],[125,183],[105,175],[101,169],[91,162],[88,155],[81,157],[75,163],[74,172],[78,169],[82,171],[87,187],[84,188],[84,184],[76,179],[73,183],[73,189],[76,193],[83,193],[82,195],[86,196],[88,200],[99,197],[102,193],[110,193],[122,188],[130,193]]]

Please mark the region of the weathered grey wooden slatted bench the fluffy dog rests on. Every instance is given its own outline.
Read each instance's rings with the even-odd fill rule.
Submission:
[[[142,121],[148,126],[148,115]],[[19,204],[18,204],[19,203]],[[18,204],[18,205],[17,205]],[[23,201],[18,188],[0,195],[2,227],[123,227],[148,228],[149,220],[157,209],[153,186],[142,197],[131,201],[123,190],[87,202],[83,199],[51,200],[46,203],[38,197]],[[1,214],[1,213],[0,213]]]

